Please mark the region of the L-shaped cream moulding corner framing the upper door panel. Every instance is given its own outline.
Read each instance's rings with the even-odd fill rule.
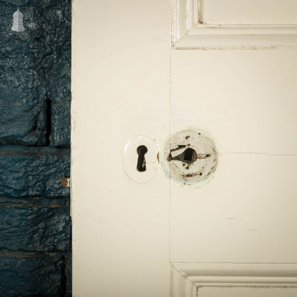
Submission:
[[[171,0],[175,49],[297,49],[297,24],[202,24],[199,0]]]

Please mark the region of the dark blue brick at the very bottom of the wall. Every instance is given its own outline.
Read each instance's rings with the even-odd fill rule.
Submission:
[[[66,258],[55,253],[0,254],[0,296],[71,296],[64,278]]]

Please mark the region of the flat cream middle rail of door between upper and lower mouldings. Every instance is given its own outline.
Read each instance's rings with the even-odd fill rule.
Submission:
[[[170,131],[203,129],[219,152],[205,186],[171,179],[171,262],[297,262],[296,58],[296,50],[171,50]]]

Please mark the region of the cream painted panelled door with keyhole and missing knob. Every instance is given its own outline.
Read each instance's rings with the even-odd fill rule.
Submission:
[[[254,2],[73,2],[73,296],[297,295],[297,4]]]

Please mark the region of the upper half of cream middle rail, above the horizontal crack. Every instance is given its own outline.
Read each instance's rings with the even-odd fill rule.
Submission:
[[[296,64],[295,50],[172,49],[171,134],[199,127],[221,153],[296,154]]]

